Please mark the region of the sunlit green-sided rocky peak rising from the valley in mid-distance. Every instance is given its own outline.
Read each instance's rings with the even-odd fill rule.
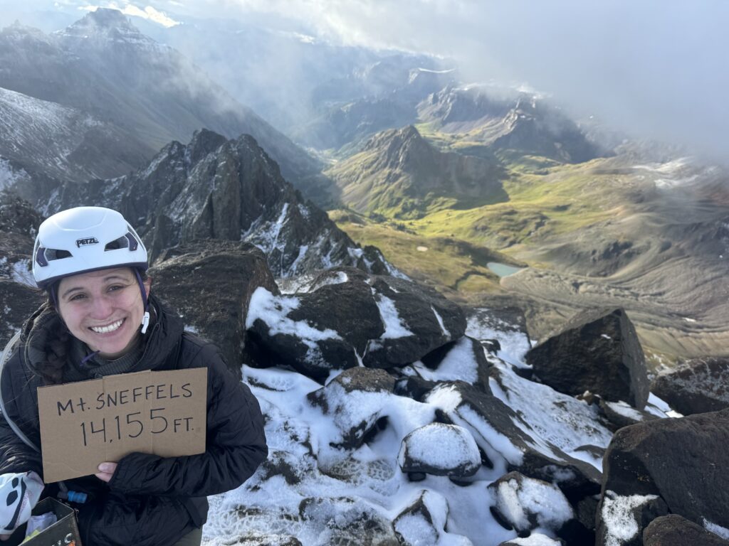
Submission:
[[[502,172],[494,162],[438,151],[412,126],[378,133],[362,152],[325,175],[336,183],[347,207],[396,218],[417,218],[445,202],[505,197]]]

